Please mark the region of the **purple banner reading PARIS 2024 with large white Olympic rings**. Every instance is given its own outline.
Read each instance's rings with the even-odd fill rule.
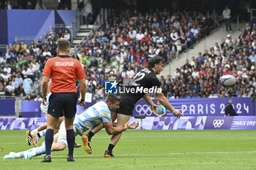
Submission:
[[[230,98],[176,98],[168,99],[170,104],[186,116],[223,116],[225,115],[225,105]],[[231,98],[233,107],[238,115],[255,115],[255,102],[251,98]],[[156,104],[157,101],[153,99]],[[148,104],[140,100],[133,109],[134,115],[154,116]],[[173,114],[167,110],[167,115]]]

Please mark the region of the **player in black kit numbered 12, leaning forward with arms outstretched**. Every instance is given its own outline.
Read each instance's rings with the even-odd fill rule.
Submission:
[[[152,112],[154,114],[157,114],[157,105],[154,104],[154,102],[151,100],[150,96],[148,95],[151,93],[150,91],[154,91],[156,93],[157,99],[159,102],[166,108],[169,109],[170,112],[173,113],[176,117],[184,116],[180,111],[181,109],[175,109],[165,98],[164,94],[162,93],[162,90],[160,87],[160,82],[157,79],[156,74],[160,74],[163,70],[163,59],[162,57],[154,57],[151,58],[148,61],[148,68],[141,70],[138,72],[134,79],[129,82],[128,87],[124,87],[122,90],[122,93],[120,93],[120,107],[117,110],[117,124],[116,126],[124,126],[127,121],[129,121],[129,118],[132,115],[132,110],[135,107],[135,104],[137,103],[140,98],[143,98],[151,107]],[[151,88],[151,90],[150,90]],[[153,88],[153,89],[152,89]],[[116,117],[112,117],[112,120],[116,120]],[[136,125],[136,127],[138,124]],[[86,134],[86,140],[83,140],[84,147],[90,148],[90,150],[86,150],[86,152],[91,152],[91,137],[94,136],[94,134],[97,133],[97,131],[102,129],[102,125],[97,125],[96,127],[92,128],[89,134]],[[136,128],[135,126],[130,128]],[[110,140],[110,144],[108,146],[108,150],[105,151],[104,157],[113,157],[112,150],[113,147],[117,144],[118,140],[121,137],[120,134],[113,135]]]

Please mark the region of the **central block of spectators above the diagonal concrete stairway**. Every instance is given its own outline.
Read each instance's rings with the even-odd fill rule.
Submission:
[[[137,15],[116,15],[74,55],[86,71],[89,92],[104,95],[105,80],[123,83],[143,69],[148,59],[160,55],[168,63],[178,53],[186,53],[201,37],[217,26],[217,13],[174,12],[164,9]]]

